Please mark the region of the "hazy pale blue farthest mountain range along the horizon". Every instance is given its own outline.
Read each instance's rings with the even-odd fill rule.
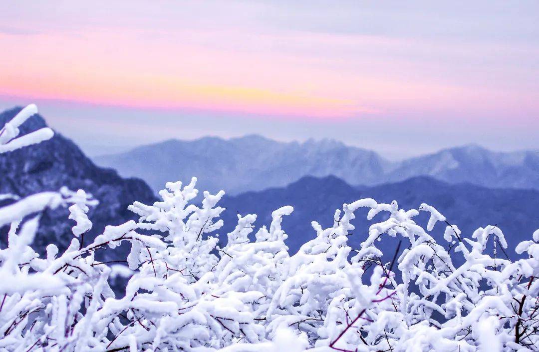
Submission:
[[[303,176],[333,175],[353,185],[430,176],[489,188],[539,189],[539,150],[501,153],[468,145],[391,162],[372,150],[334,140],[277,142],[258,135],[194,141],[168,140],[94,158],[126,177],[141,177],[154,191],[167,181],[198,176],[202,189],[229,194],[284,187]]]

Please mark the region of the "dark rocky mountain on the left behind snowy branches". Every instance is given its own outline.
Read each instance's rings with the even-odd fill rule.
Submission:
[[[20,111],[13,108],[0,114],[0,126]],[[45,127],[45,120],[34,115],[20,127],[21,133]],[[144,181],[121,178],[112,169],[97,167],[75,143],[56,133],[43,143],[0,155],[0,194],[27,196],[40,191],[58,191],[62,186],[71,190],[84,189],[100,204],[88,216],[94,222],[87,237],[102,232],[105,225],[119,225],[135,218],[127,210],[133,201],[153,202],[155,196]],[[64,249],[73,237],[72,220],[67,209],[46,211],[34,243],[43,249],[48,243]],[[0,229],[2,240],[7,229]]]

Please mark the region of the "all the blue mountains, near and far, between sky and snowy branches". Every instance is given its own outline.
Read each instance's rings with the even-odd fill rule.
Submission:
[[[19,110],[0,114],[0,126]],[[22,133],[44,126],[42,116],[34,115],[22,126]],[[539,190],[533,189],[539,187],[539,162],[537,153],[531,151],[494,153],[467,146],[393,163],[373,151],[328,140],[281,143],[260,136],[231,140],[206,137],[139,147],[98,158],[98,162],[118,167],[123,175],[140,175],[154,190],[170,180],[188,182],[191,176],[199,178],[198,189],[227,190],[220,204],[227,208],[222,214],[225,226],[219,230],[222,238],[236,225],[237,213],[256,213],[257,225],[269,225],[273,210],[292,205],[295,211],[283,221],[292,251],[313,238],[312,220],[330,226],[335,209],[365,197],[387,203],[396,199],[407,209],[428,203],[468,235],[479,226],[497,225],[512,247],[539,228]],[[58,133],[37,146],[0,155],[0,175],[0,194],[26,196],[58,190],[63,185],[92,193],[101,204],[89,213],[94,222],[91,236],[105,225],[134,218],[127,210],[133,201],[151,204],[156,200],[144,181],[122,178],[112,169],[96,166],[77,145]],[[519,187],[527,189],[516,189]],[[238,194],[249,189],[255,191]],[[357,211],[357,229],[349,238],[353,247],[367,236],[370,223],[366,214],[364,209]],[[67,217],[66,209],[46,211],[37,245],[43,249],[52,241],[65,248],[73,226]],[[416,221],[425,225],[427,215],[421,213]],[[444,228],[437,226],[433,232],[441,241]],[[0,241],[5,241],[6,231],[0,229]],[[386,237],[381,245],[387,253],[393,253],[397,243]],[[508,254],[515,256],[514,252]]]

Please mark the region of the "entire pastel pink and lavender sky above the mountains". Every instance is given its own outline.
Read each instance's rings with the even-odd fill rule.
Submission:
[[[0,48],[0,109],[37,103],[90,155],[253,133],[539,149],[536,0],[4,0]]]

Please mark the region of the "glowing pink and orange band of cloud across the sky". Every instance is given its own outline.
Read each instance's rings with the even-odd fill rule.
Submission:
[[[451,58],[440,63],[408,54],[428,45],[437,56],[461,50],[473,63],[472,45],[431,39],[92,26],[4,32],[0,43],[10,52],[0,57],[0,94],[38,99],[361,118],[455,106],[481,111],[485,99],[500,108],[522,106],[529,95],[524,87],[504,87],[514,67],[495,73],[506,83],[493,85],[480,71],[466,77],[469,67]],[[483,50],[493,55],[500,45]]]

